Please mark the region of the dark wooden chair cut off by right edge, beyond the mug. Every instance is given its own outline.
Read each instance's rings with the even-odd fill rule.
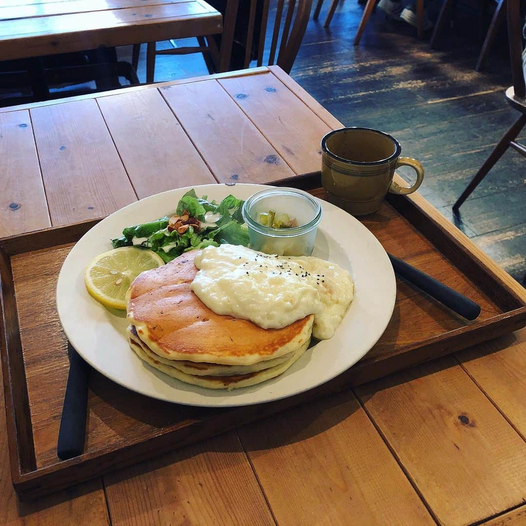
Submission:
[[[519,13],[519,0],[507,0],[507,4],[508,38],[510,43],[513,86],[510,86],[506,90],[506,100],[514,110],[517,110],[520,113],[520,117],[504,134],[499,144],[495,146],[490,156],[473,177],[471,183],[468,184],[466,190],[462,192],[462,195],[453,205],[453,212],[457,214],[462,203],[468,199],[471,192],[477,188],[486,174],[510,146],[526,157],[526,146],[515,141],[524,125],[526,125],[526,86],[524,83],[524,73],[522,71],[522,28]]]

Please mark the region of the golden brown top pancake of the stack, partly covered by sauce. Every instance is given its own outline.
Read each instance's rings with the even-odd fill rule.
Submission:
[[[297,351],[310,341],[312,315],[283,329],[261,329],[208,309],[190,290],[196,253],[143,272],[130,286],[128,319],[151,351],[167,360],[252,365]]]

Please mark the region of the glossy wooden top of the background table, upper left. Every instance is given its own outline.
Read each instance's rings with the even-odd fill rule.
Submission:
[[[204,0],[0,2],[1,60],[221,31],[221,14]]]

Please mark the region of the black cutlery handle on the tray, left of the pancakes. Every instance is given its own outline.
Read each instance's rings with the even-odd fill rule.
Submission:
[[[69,350],[69,375],[57,442],[57,456],[60,460],[82,454],[86,435],[89,365],[71,346]]]

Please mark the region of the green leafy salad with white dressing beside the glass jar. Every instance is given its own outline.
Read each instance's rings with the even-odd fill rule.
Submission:
[[[175,214],[181,216],[187,212],[190,217],[205,222],[205,214],[210,212],[215,218],[214,223],[207,219],[207,223],[200,223],[199,228],[189,225],[179,234],[177,230],[168,229],[170,217],[175,215],[170,214],[156,221],[127,226],[121,237],[112,240],[112,245],[115,249],[139,246],[153,250],[165,263],[183,252],[221,243],[248,246],[248,230],[241,216],[243,202],[234,195],[228,195],[220,203],[209,201],[206,195],[198,197],[192,189],[181,197]]]

